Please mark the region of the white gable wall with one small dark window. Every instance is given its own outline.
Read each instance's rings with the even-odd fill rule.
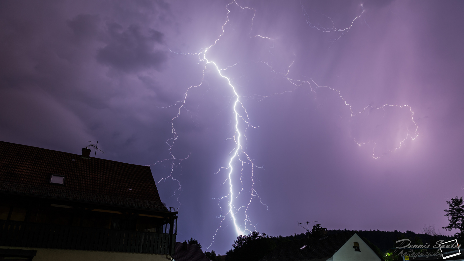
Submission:
[[[353,242],[359,243],[359,251],[354,251]],[[331,257],[333,261],[380,261],[380,257],[372,251],[358,234],[354,234]]]

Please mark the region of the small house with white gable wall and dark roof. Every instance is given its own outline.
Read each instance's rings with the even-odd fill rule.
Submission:
[[[281,244],[260,261],[380,261],[353,231]]]

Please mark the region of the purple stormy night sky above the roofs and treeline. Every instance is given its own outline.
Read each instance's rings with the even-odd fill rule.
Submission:
[[[464,4],[238,1],[226,23],[229,3],[2,1],[0,140],[77,154],[97,140],[109,151],[97,157],[156,163],[158,182],[171,172],[172,160],[157,162],[171,158],[169,122],[180,111],[172,153],[188,158],[172,176],[181,190],[170,177],[158,189],[168,206],[180,205],[178,241],[193,237],[206,250],[223,219],[219,206],[227,211],[227,198],[214,198],[227,196],[221,167],[235,147],[229,78],[257,127],[241,139],[255,164],[254,190],[245,163],[234,206],[251,193],[268,206],[254,196],[246,228],[290,235],[313,220],[329,229],[446,226],[445,201],[464,196]],[[237,4],[255,9],[254,18]],[[351,28],[322,32],[334,26]],[[199,55],[181,54],[208,46],[208,61],[233,65],[221,71],[226,78]],[[352,117],[335,90],[353,114],[367,109]],[[407,104],[413,119],[407,106],[373,109],[385,104]],[[246,126],[239,119],[242,134]],[[235,197],[242,172],[240,162],[232,166]],[[244,210],[236,214],[242,231]],[[208,250],[224,254],[236,236],[229,214]]]

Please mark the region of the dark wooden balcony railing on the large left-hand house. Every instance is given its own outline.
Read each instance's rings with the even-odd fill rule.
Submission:
[[[0,220],[0,246],[174,254],[175,234]]]

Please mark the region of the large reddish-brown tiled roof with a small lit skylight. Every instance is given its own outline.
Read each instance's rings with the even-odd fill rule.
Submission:
[[[50,175],[64,184],[49,183]],[[150,167],[0,141],[0,182],[160,202]]]

